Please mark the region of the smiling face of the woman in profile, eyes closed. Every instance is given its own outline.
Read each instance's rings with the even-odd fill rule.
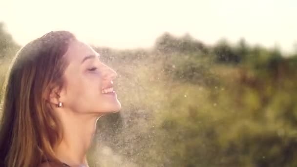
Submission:
[[[95,114],[120,110],[121,104],[112,91],[112,80],[117,74],[100,61],[96,51],[75,40],[69,44],[64,58],[69,65],[65,69],[59,100],[65,109]]]

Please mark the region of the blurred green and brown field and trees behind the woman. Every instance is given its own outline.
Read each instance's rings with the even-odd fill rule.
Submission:
[[[122,110],[100,118],[90,165],[297,166],[297,53],[169,33],[150,49],[93,47]],[[18,48],[1,25],[1,81]]]

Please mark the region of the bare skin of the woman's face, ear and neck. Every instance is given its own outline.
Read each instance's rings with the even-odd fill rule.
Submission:
[[[121,108],[116,94],[102,93],[103,88],[112,86],[117,73],[81,41],[72,41],[64,58],[69,63],[64,72],[64,85],[62,89],[53,88],[50,93],[52,112],[59,117],[64,130],[62,143],[55,153],[71,167],[88,167],[86,152],[98,118]],[[59,102],[63,103],[62,107],[57,107]]]

